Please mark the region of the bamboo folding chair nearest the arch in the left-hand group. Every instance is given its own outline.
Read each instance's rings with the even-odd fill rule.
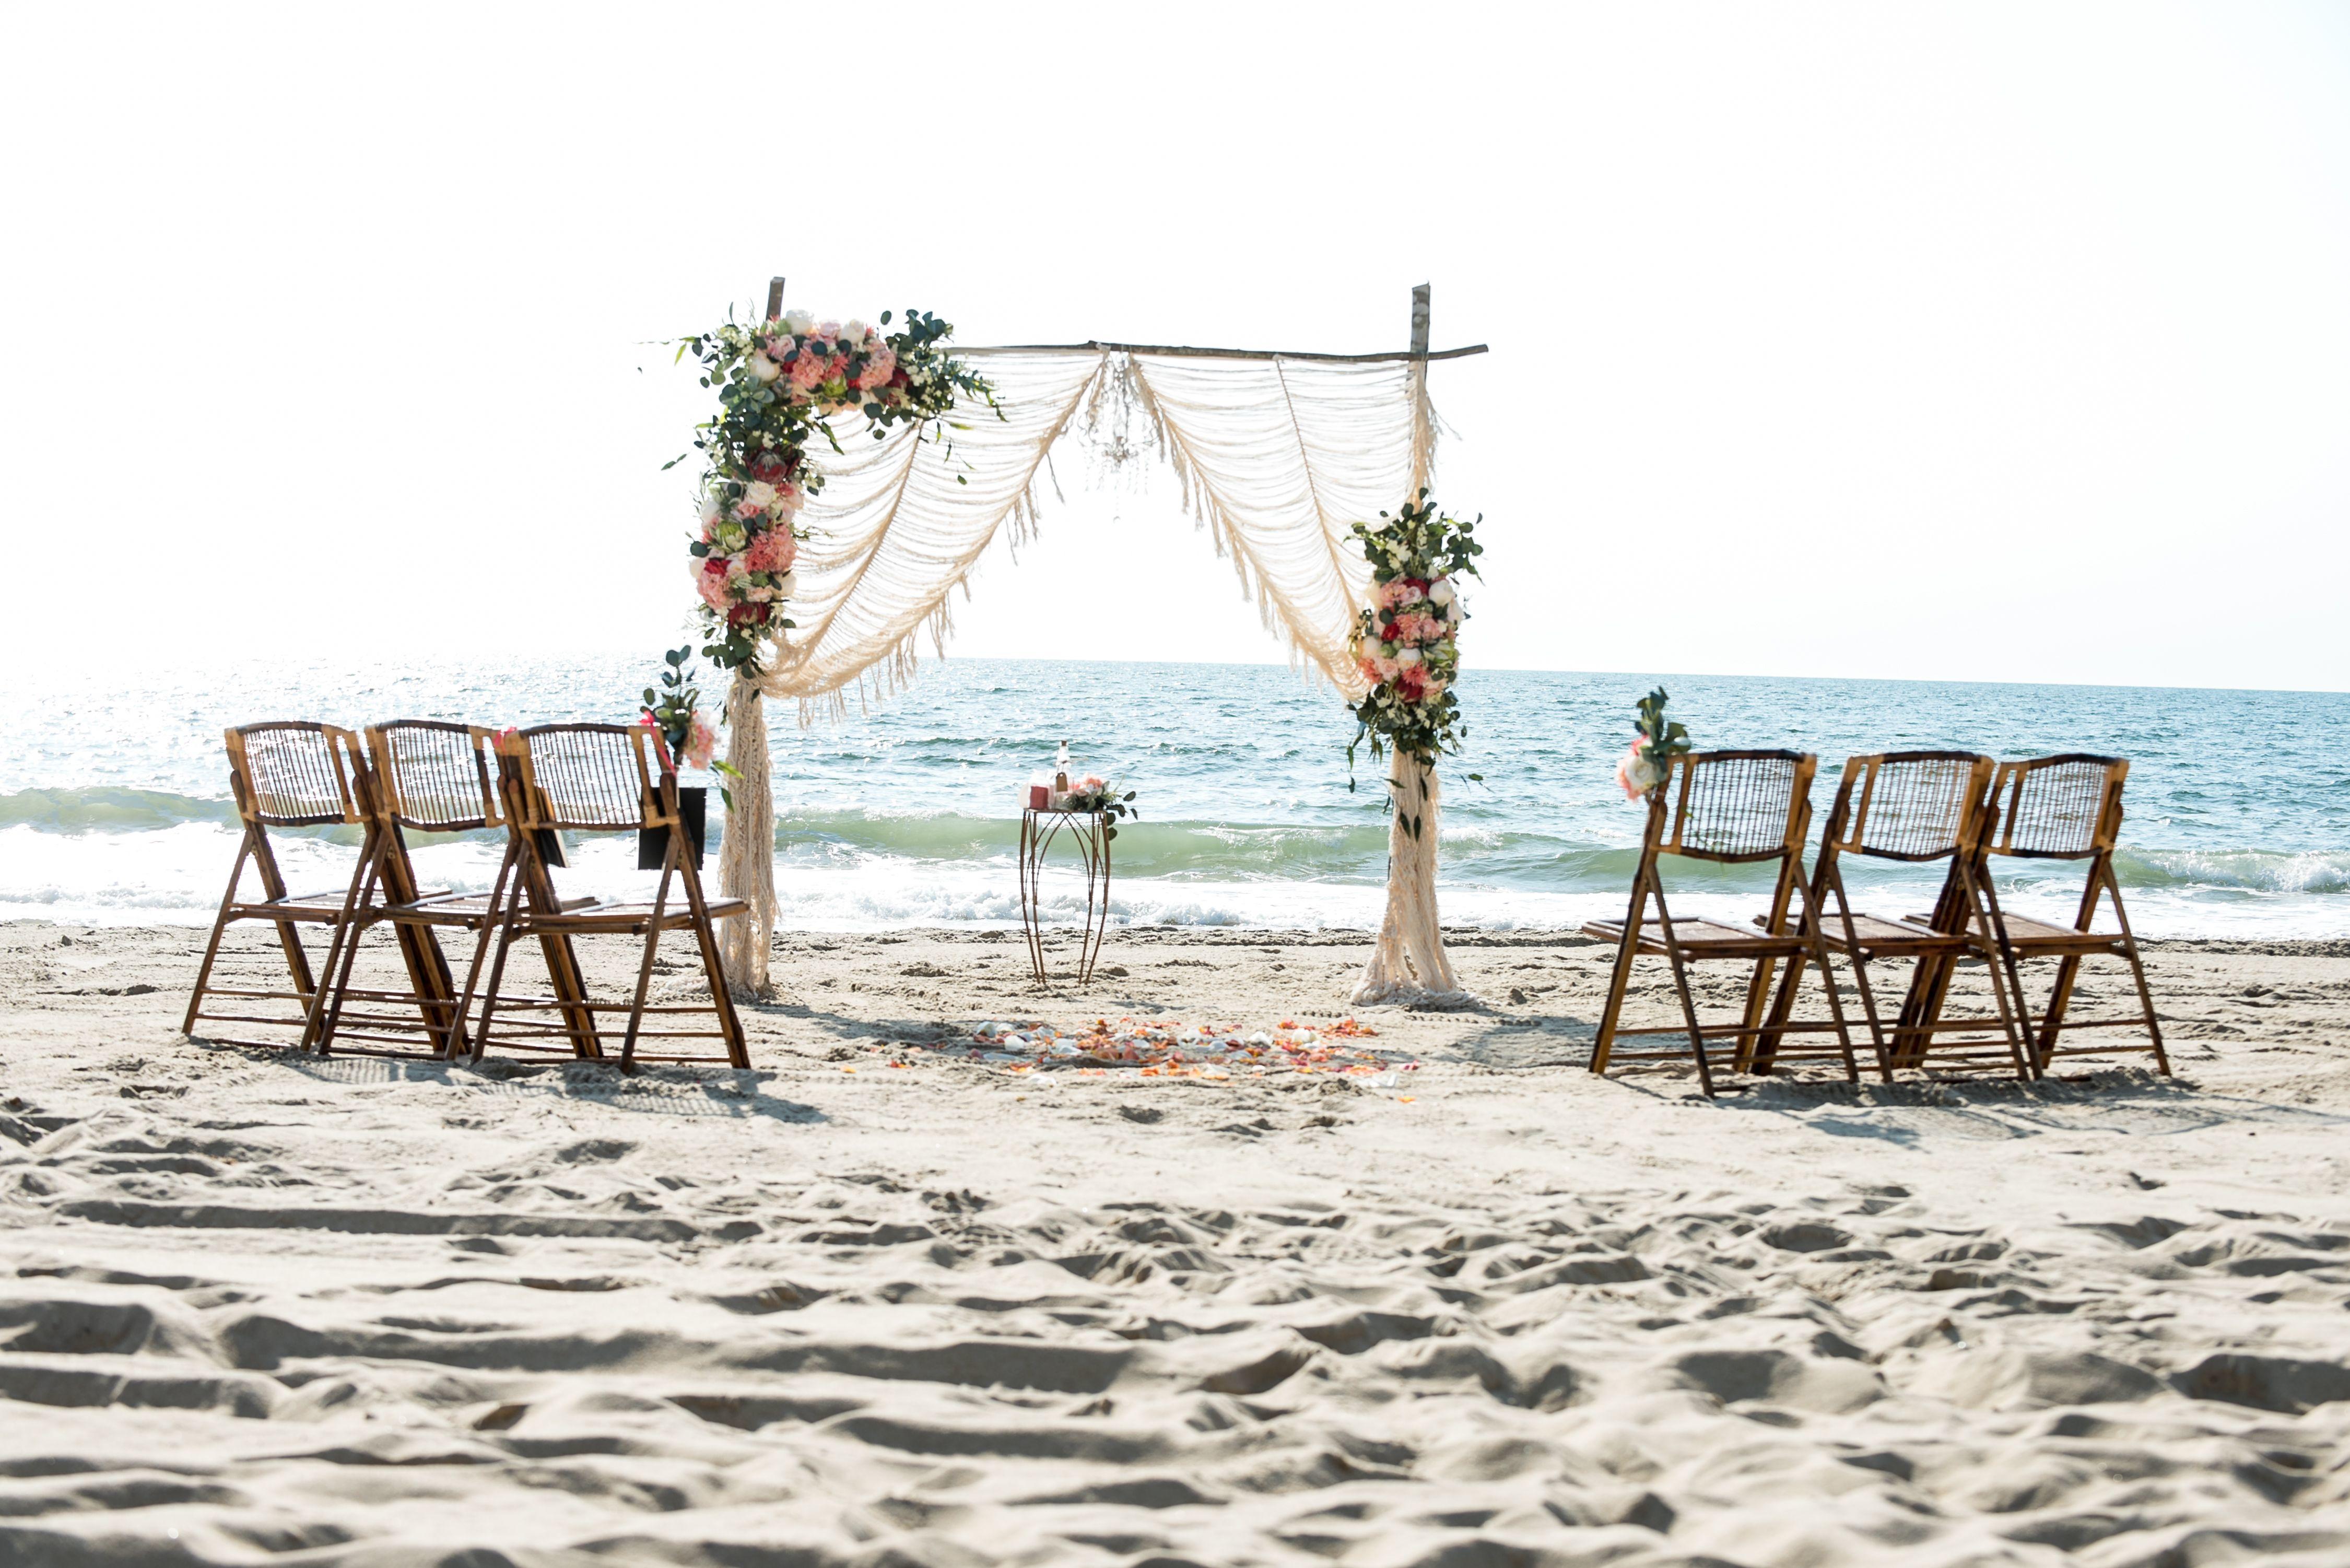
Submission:
[[[743,1020],[726,992],[726,976],[719,969],[719,945],[712,922],[747,912],[740,898],[705,898],[703,877],[686,849],[686,832],[677,816],[677,769],[660,743],[658,731],[646,724],[540,724],[538,729],[510,731],[498,741],[505,762],[505,823],[510,853],[515,858],[515,889],[505,898],[498,926],[496,959],[489,969],[489,985],[482,992],[482,1023],[475,1032],[475,1060],[491,1041],[519,1051],[552,1051],[550,1041],[562,1041],[562,1051],[580,1058],[602,1058],[604,1046],[595,1025],[597,1013],[627,1013],[627,1034],[620,1041],[620,1070],[637,1060],[649,1063],[714,1063],[750,1067],[750,1048],[743,1044]],[[667,856],[660,867],[660,886],[651,903],[616,900],[562,905],[555,898],[555,879],[545,863],[543,832],[642,832],[667,827]],[[684,903],[670,900],[670,889],[684,884]],[[703,976],[710,983],[707,1004],[649,1004],[653,985],[653,959],[663,931],[693,931],[700,947]],[[637,964],[637,990],[630,1001],[588,1001],[585,990],[576,997],[517,999],[503,997],[505,959],[515,943],[536,936],[548,947],[550,969],[557,950],[569,961],[573,936],[642,936],[644,957]],[[573,964],[571,976],[578,976]],[[557,976],[557,990],[564,976]],[[524,1018],[498,1025],[496,1016],[557,1011],[562,1018]],[[679,1013],[712,1013],[712,1030],[646,1030],[644,1020],[667,1020]],[[501,1027],[505,1034],[501,1034]],[[639,1058],[639,1039],[717,1039],[724,1056],[686,1056],[660,1051]]]

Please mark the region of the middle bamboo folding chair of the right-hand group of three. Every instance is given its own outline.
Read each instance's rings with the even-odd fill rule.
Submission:
[[[1950,973],[1967,957],[1967,922],[1983,919],[1986,896],[1976,849],[1988,825],[1990,776],[1998,764],[1976,752],[1882,752],[1849,757],[1835,806],[1819,835],[1819,860],[1812,865],[1812,910],[1821,919],[1821,943],[1852,964],[1868,1018],[1868,1039],[1878,1051],[1878,1070],[1892,1079],[1896,1067],[1934,1070],[2007,1070],[2030,1079],[2023,1034],[2007,1004],[2007,987],[1990,976],[1995,1018],[1943,1018]],[[1859,914],[1845,891],[1845,856],[1925,865],[1948,860],[1934,912],[1922,919],[1882,919]],[[1911,959],[1911,987],[1892,1032],[1878,1009],[1878,987],[1868,966],[1878,959]],[[1802,978],[1795,969],[1772,1004],[1772,1018],[1793,1009]],[[1998,1034],[1986,1030],[1998,1027]],[[1960,1039],[1946,1039],[1960,1034]],[[1770,1034],[1758,1051],[1767,1058]]]

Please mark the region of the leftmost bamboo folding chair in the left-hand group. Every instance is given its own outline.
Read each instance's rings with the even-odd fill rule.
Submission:
[[[374,853],[374,827],[352,792],[360,771],[360,738],[334,724],[308,719],[277,719],[268,724],[240,724],[226,731],[228,741],[228,790],[237,802],[237,818],[244,823],[244,842],[237,846],[237,863],[228,872],[228,893],[221,896],[221,912],[212,922],[212,940],[204,945],[204,961],[195,971],[195,992],[188,997],[188,1016],[181,1032],[195,1037],[200,1023],[251,1023],[275,1030],[294,1030],[291,1039],[219,1039],[228,1046],[256,1046],[282,1051],[284,1046],[308,1046],[320,1018],[322,994],[310,971],[310,954],[303,950],[301,926],[327,929],[324,971],[331,976],[343,936],[350,929],[350,912],[360,898],[360,879],[367,875]],[[360,827],[360,865],[350,872],[350,886],[341,893],[287,893],[287,879],[277,870],[277,851],[270,844],[270,827]],[[261,898],[242,898],[247,860],[261,875]],[[266,919],[277,926],[277,943],[284,947],[291,992],[251,990],[212,983],[212,966],[221,957],[221,938],[228,926],[244,919]],[[223,999],[244,1011],[204,1011],[207,999]],[[296,1016],[261,1011],[268,1004],[294,1001]],[[216,1039],[216,1037],[202,1037]]]

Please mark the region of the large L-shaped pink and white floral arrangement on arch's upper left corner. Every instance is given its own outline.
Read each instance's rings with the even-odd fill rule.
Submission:
[[[745,327],[726,322],[677,346],[703,367],[719,411],[696,428],[703,494],[693,555],[693,590],[703,599],[703,656],[721,670],[757,663],[790,630],[787,604],[799,590],[792,562],[806,531],[799,510],[825,487],[808,468],[815,435],[839,451],[825,423],[862,414],[874,440],[891,425],[945,423],[956,397],[994,407],[994,388],[942,348],[949,322],[907,310],[895,331],[881,324],[818,322],[806,310]],[[684,454],[670,458],[674,468]],[[961,475],[956,475],[961,480]]]

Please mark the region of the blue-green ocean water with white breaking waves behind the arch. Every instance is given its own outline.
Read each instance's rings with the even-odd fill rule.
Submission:
[[[45,689],[0,712],[0,917],[207,924],[235,856],[226,724],[630,719],[642,658],[397,670],[336,663],[172,672],[136,689]],[[1640,811],[1614,788],[1647,675],[1471,670],[1469,752],[1445,769],[1445,924],[1572,926],[1622,912]],[[2146,936],[2350,936],[2350,696],[2136,686],[1661,677],[1697,745],[1821,757],[1974,748],[2131,759],[2120,875]],[[714,689],[714,682],[712,682]],[[1006,924],[1022,788],[1072,743],[1137,792],[1116,842],[1123,924],[1375,926],[1382,773],[1340,701],[1276,665],[947,661],[870,715],[799,729],[771,705],[778,891],[792,929]],[[1473,783],[1466,773],[1483,773]],[[712,802],[714,806],[714,802]],[[442,886],[482,889],[486,839],[418,842]],[[287,835],[303,891],[348,877],[350,832]],[[637,886],[632,846],[576,844],[592,891]],[[1925,907],[1934,872],[1847,863],[1864,907]],[[2002,867],[2005,872],[2007,867]],[[1751,867],[1685,867],[1676,910],[1744,919]],[[1069,875],[1055,889],[1076,893]],[[2002,875],[2019,910],[2070,917],[2077,867]],[[1899,905],[1899,907],[1894,907]]]

